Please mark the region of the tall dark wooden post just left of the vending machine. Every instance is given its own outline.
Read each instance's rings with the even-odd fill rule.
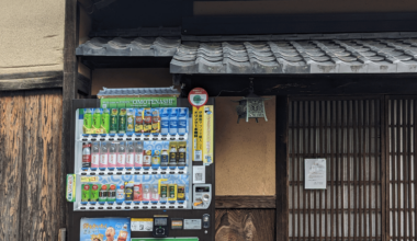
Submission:
[[[66,174],[70,160],[71,146],[69,135],[72,119],[71,106],[72,99],[77,96],[77,78],[78,62],[76,57],[76,47],[78,45],[78,20],[79,11],[77,0],[66,0],[65,3],[65,38],[64,38],[64,80],[63,80],[63,141],[61,141],[61,176],[60,176],[60,195],[65,195]],[[67,216],[67,203],[63,198],[59,208],[59,227],[69,227],[71,222]]]

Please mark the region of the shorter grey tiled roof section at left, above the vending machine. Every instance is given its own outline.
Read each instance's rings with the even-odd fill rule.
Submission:
[[[179,38],[137,37],[105,38],[94,37],[80,45],[77,56],[173,56],[180,46]]]

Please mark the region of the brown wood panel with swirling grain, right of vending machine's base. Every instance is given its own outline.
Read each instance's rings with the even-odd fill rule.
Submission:
[[[215,240],[272,241],[274,209],[217,209]]]

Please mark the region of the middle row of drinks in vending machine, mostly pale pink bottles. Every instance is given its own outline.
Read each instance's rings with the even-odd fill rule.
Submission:
[[[100,141],[82,144],[82,171],[184,169],[187,141]]]

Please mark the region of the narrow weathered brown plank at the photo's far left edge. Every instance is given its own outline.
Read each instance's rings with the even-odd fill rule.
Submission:
[[[19,239],[24,93],[0,92],[0,240]]]

